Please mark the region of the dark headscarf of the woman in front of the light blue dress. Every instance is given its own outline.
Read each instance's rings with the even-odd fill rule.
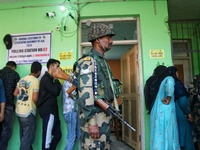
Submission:
[[[179,80],[178,77],[176,76],[176,72],[178,71],[178,69],[175,66],[170,66],[167,68],[167,70],[169,71],[170,76],[172,76],[175,80],[175,85],[174,85],[175,99],[178,99],[179,97],[183,97],[183,96],[188,97],[189,93],[187,92],[187,89],[185,88],[181,80]]]

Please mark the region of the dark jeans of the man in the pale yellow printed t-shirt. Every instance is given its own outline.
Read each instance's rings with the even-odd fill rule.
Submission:
[[[31,150],[35,139],[36,117],[18,117],[20,125],[20,150]]]

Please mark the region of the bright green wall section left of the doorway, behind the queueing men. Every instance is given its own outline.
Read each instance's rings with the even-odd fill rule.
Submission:
[[[3,43],[3,37],[6,34],[18,34],[18,33],[33,33],[33,32],[46,32],[52,31],[52,58],[58,59],[59,52],[73,52],[73,59],[68,61],[61,61],[61,66],[72,66],[73,62],[77,59],[77,27],[74,20],[67,18],[67,29],[68,31],[61,34],[61,32],[56,30],[57,26],[61,26],[62,18],[67,15],[66,12],[61,12],[59,6],[44,6],[44,7],[33,7],[33,8],[22,8],[22,6],[39,6],[43,4],[55,4],[55,1],[45,1],[39,2],[39,0],[27,0],[20,2],[12,3],[3,3],[0,5],[0,68],[4,67],[7,62],[7,50]],[[62,1],[63,2],[63,1]],[[56,3],[59,3],[57,1]],[[61,3],[61,1],[60,1]],[[73,6],[74,7],[74,6]],[[17,8],[17,9],[16,9]],[[4,10],[5,9],[5,10]],[[70,7],[69,7],[70,9]],[[56,12],[55,18],[46,17],[47,12]],[[70,9],[72,14],[74,9]],[[66,17],[65,17],[66,19]],[[71,32],[76,31],[75,34]],[[70,32],[70,33],[69,33]],[[73,32],[74,33],[74,32]],[[46,66],[46,64],[43,64]],[[21,77],[29,74],[30,65],[18,65],[17,72]],[[66,139],[66,123],[62,115],[62,99],[61,96],[58,98],[59,104],[59,113],[61,120],[61,129],[62,129],[62,139],[59,143],[58,149],[64,149],[65,139]],[[36,138],[33,145],[33,148],[36,150],[41,149],[42,144],[42,123],[41,118],[37,114],[37,131]],[[19,149],[19,126],[18,119],[15,118],[14,131],[12,138],[9,142],[8,150]]]

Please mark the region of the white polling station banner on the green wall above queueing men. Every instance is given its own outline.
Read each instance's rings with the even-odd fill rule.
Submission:
[[[51,32],[12,34],[12,48],[8,50],[8,61],[31,64],[46,63],[51,58]]]

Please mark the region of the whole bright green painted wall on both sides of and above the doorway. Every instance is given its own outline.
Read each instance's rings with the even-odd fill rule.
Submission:
[[[128,0],[121,2],[99,2],[95,3],[93,1],[79,0],[79,5],[70,4],[66,2],[68,11],[70,11],[73,16],[77,19],[77,12],[80,12],[80,20],[91,19],[91,18],[124,18],[138,16],[140,19],[140,45],[141,45],[141,71],[143,83],[152,74],[153,69],[158,63],[165,64],[167,66],[172,64],[171,59],[171,46],[170,37],[168,32],[168,26],[165,23],[168,18],[167,13],[167,2],[166,0],[156,1],[154,5],[153,1],[136,1]],[[52,31],[52,57],[58,59],[59,52],[73,52],[73,59],[69,61],[61,61],[61,66],[72,66],[73,62],[77,59],[77,49],[78,49],[78,30],[77,26],[70,17],[66,17],[68,12],[61,12],[59,6],[50,6],[55,3],[61,4],[63,1],[53,1],[53,0],[29,0],[26,2],[12,2],[3,3],[0,5],[0,39],[7,34],[17,34],[17,33],[31,33],[31,32],[44,32]],[[41,5],[41,7],[33,6]],[[24,8],[22,6],[30,6]],[[79,10],[77,10],[79,8]],[[46,17],[46,12],[56,12],[55,18]],[[68,30],[61,34],[61,32],[56,30],[57,26],[62,26],[62,18],[67,18]],[[74,32],[76,31],[76,32]],[[72,34],[73,33],[73,34]],[[0,44],[1,55],[0,55],[0,68],[5,66],[7,62],[7,50],[2,41]],[[160,59],[150,59],[149,50],[164,50],[164,58]],[[45,65],[45,64],[44,64]],[[17,72],[20,76],[29,73],[30,65],[19,65]],[[142,87],[143,88],[143,87]],[[141,90],[143,91],[143,90]],[[143,99],[143,95],[142,95]],[[58,149],[63,149],[65,146],[65,136],[66,136],[66,125],[64,118],[62,116],[62,103],[61,96],[59,97],[59,111],[61,119],[61,128],[63,137],[59,143]],[[143,102],[142,102],[143,103]],[[142,136],[144,136],[145,147],[149,149],[149,116],[146,115],[146,110],[144,107],[144,125],[145,129],[142,129]],[[37,116],[37,133],[34,143],[35,149],[40,149],[41,147],[41,118]],[[10,149],[17,149],[19,147],[19,126],[17,118],[15,120],[13,136],[9,143]],[[142,143],[144,145],[144,143]]]

